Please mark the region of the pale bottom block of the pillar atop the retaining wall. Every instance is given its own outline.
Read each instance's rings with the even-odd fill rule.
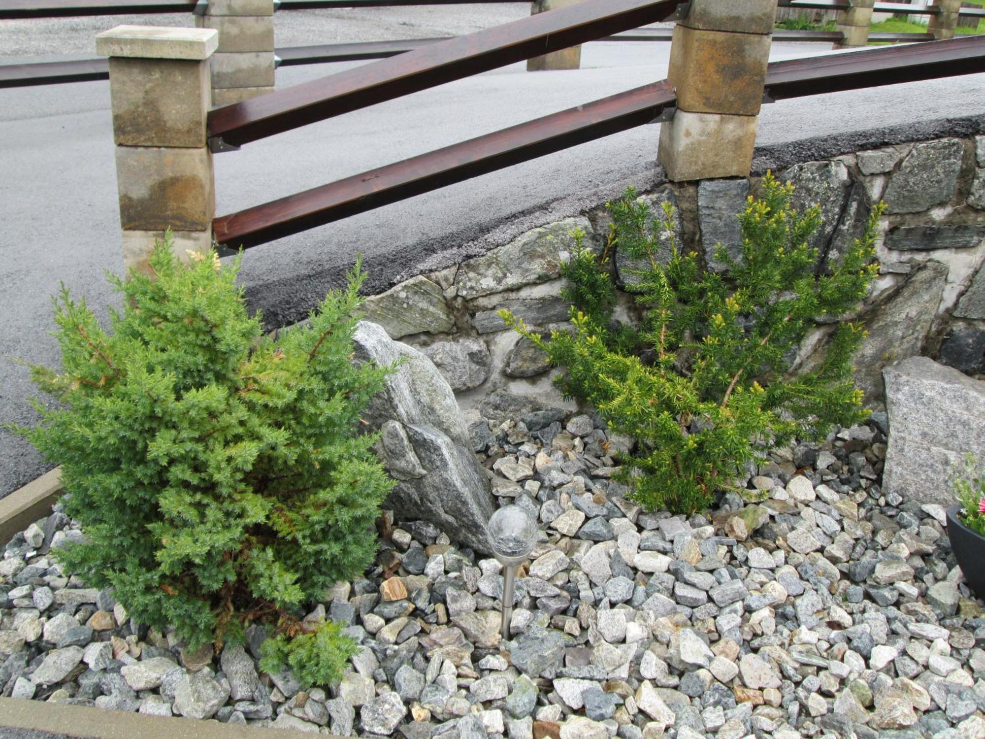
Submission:
[[[678,110],[660,126],[659,162],[668,178],[745,177],[753,167],[758,119]]]

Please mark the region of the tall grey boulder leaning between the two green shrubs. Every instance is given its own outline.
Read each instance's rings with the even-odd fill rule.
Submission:
[[[369,429],[382,432],[380,458],[398,480],[387,505],[398,517],[430,521],[454,541],[489,553],[490,482],[451,386],[424,354],[375,323],[361,321],[354,342],[359,361],[401,362],[362,414]]]

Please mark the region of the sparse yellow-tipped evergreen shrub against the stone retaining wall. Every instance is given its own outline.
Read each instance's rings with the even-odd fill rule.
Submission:
[[[654,216],[630,188],[609,204],[613,223],[601,255],[585,246],[583,233],[573,234],[562,267],[572,330],[544,340],[500,312],[565,368],[558,383],[566,396],[590,402],[611,429],[637,440],[617,479],[647,509],[706,508],[770,446],[867,416],[851,378],[865,332],[838,316],[862,300],[878,272],[873,244],[883,206],[873,209],[865,235],[818,274],[807,240],[820,210],[794,211],[792,191],[766,175],[761,199],[751,197],[739,215],[741,257],[718,244],[715,259],[725,267],[715,273],[674,243],[673,208]],[[670,236],[669,255],[661,234]],[[643,310],[638,329],[612,319],[615,248],[646,265],[631,270],[639,281],[627,288]],[[790,372],[819,319],[836,324],[822,361]]]

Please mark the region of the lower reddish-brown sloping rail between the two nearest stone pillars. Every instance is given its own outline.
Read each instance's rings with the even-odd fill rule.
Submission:
[[[653,123],[676,98],[666,82],[572,107],[213,221],[216,241],[265,243],[382,205]]]

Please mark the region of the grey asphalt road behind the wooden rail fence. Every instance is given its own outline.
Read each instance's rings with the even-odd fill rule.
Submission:
[[[283,12],[278,45],[461,34],[524,17],[526,3],[441,9]],[[0,24],[0,57],[92,54],[93,36],[118,23],[184,25],[184,17]],[[52,53],[57,49],[58,53]],[[666,76],[669,44],[597,42],[582,69],[527,74],[512,65],[375,105],[216,158],[217,206],[230,213]],[[824,53],[777,43],[774,59]],[[289,67],[278,86],[349,64]],[[809,137],[918,126],[985,113],[985,76],[782,101],[760,116],[758,141],[782,151]],[[897,130],[898,134],[898,130]],[[484,175],[403,203],[250,249],[241,276],[272,325],[303,317],[358,252],[369,288],[480,253],[533,225],[594,206],[655,176],[658,131],[642,127]],[[873,134],[879,138],[878,134]],[[107,83],[0,90],[0,354],[50,366],[57,347],[50,296],[59,282],[105,315],[115,299],[103,273],[122,271]],[[0,420],[31,423],[28,370],[0,359]],[[0,431],[0,497],[47,466]]]

